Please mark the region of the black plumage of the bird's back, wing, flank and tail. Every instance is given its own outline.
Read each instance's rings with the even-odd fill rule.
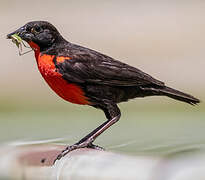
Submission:
[[[45,53],[53,54],[49,51]],[[156,95],[168,96],[189,104],[199,102],[193,96],[169,88],[162,81],[135,67],[94,50],[65,42],[63,48],[55,48],[55,51],[57,57],[69,57],[62,63],[57,63],[54,59],[58,72],[68,82],[78,83],[93,103],[102,104],[101,100],[120,103],[136,97]]]

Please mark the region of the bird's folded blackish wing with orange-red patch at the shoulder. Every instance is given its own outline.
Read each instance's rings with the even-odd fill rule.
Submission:
[[[56,62],[56,67],[69,82],[111,86],[164,86],[163,82],[137,68],[87,48],[69,51],[69,55],[63,57],[64,61]]]

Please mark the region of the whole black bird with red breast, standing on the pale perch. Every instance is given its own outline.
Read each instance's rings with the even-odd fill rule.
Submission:
[[[12,39],[14,34],[34,50],[42,77],[58,96],[74,104],[100,109],[107,119],[78,142],[67,146],[55,161],[78,148],[103,149],[93,142],[120,119],[118,103],[146,96],[167,96],[191,105],[200,102],[138,68],[67,41],[47,21],[28,22],[7,38]]]

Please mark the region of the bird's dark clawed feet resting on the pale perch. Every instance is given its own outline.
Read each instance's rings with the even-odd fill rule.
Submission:
[[[97,146],[97,145],[94,145],[92,143],[76,143],[76,144],[73,144],[71,146],[67,146],[60,154],[58,154],[58,156],[56,157],[56,159],[54,160],[53,164],[55,164],[55,162],[57,160],[60,160],[62,157],[64,157],[66,154],[68,154],[69,152],[73,151],[73,150],[76,150],[76,149],[80,149],[80,148],[91,148],[91,149],[96,149],[96,150],[104,150],[104,148],[100,147],[100,146]]]

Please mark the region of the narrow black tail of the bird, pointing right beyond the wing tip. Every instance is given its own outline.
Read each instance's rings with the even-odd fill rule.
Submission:
[[[168,96],[170,98],[189,103],[191,105],[195,105],[197,103],[200,103],[200,100],[195,98],[194,96],[183,93],[181,91],[178,91],[178,90],[170,88],[170,87],[165,86],[165,87],[159,89],[159,92],[160,92],[160,94],[162,93],[161,95],[165,95],[165,96]]]

